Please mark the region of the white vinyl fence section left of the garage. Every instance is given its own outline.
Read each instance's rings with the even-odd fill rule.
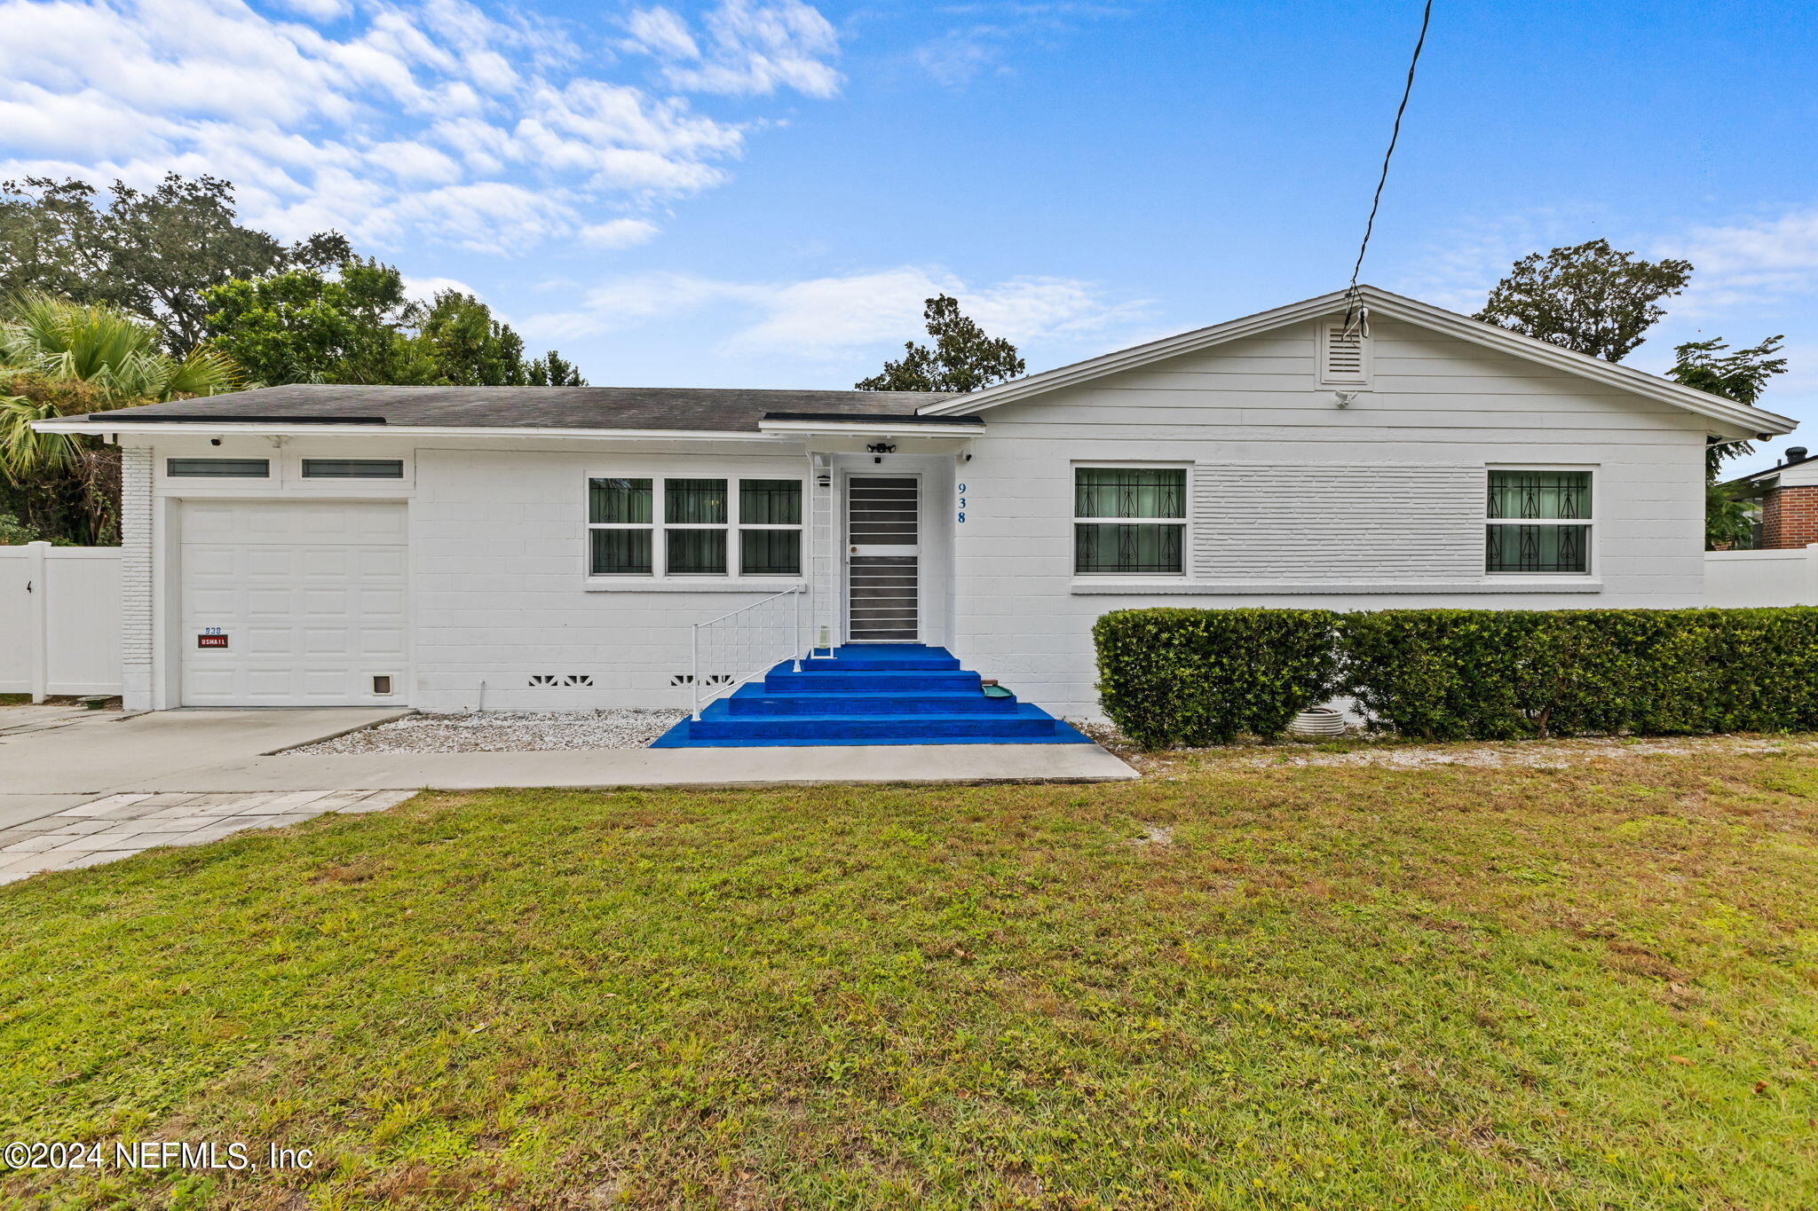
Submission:
[[[0,546],[0,694],[120,692],[120,548]]]

